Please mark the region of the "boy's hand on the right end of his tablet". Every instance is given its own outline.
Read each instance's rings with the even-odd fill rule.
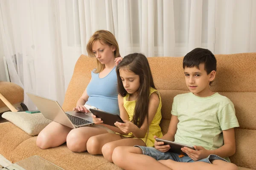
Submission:
[[[194,146],[195,150],[188,147],[181,148],[182,152],[186,153],[194,161],[207,158],[210,155],[209,150],[204,149],[202,146]]]

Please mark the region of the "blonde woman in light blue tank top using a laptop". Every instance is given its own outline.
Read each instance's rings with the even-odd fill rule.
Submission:
[[[77,101],[73,111],[87,113],[85,106],[94,106],[100,110],[119,114],[116,62],[121,58],[116,38],[110,31],[96,31],[87,44],[90,57],[96,57],[97,68],[91,72],[91,80]],[[51,122],[39,134],[36,141],[38,147],[47,149],[67,142],[73,152],[87,150],[87,140],[91,136],[104,133],[115,133],[108,125],[93,125],[71,129],[57,122]]]

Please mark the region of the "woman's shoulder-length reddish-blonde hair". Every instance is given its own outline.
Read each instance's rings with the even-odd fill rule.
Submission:
[[[118,43],[116,41],[116,38],[110,31],[107,31],[107,30],[96,31],[92,35],[92,37],[90,37],[90,40],[87,43],[87,52],[88,52],[89,57],[95,57],[95,54],[93,54],[93,43],[97,40],[99,40],[100,43],[105,43],[109,46],[113,45],[116,48],[116,50],[114,51],[114,57],[115,58],[120,57],[119,46],[118,46]],[[100,63],[99,60],[97,59],[97,68],[93,72],[94,73],[99,73],[104,68],[105,68],[105,65]]]

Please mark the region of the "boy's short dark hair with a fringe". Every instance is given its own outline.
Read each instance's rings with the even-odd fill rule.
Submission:
[[[183,69],[185,69],[185,67],[196,67],[199,69],[199,65],[202,63],[204,63],[204,70],[207,72],[207,74],[210,74],[213,70],[217,70],[217,61],[215,56],[211,51],[205,48],[195,48],[186,54],[186,56],[183,58]],[[212,82],[210,82],[210,85]]]

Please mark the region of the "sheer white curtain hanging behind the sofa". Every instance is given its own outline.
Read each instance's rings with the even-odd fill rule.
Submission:
[[[60,104],[99,29],[116,36],[122,57],[256,52],[255,0],[0,0],[0,10],[11,81]]]

